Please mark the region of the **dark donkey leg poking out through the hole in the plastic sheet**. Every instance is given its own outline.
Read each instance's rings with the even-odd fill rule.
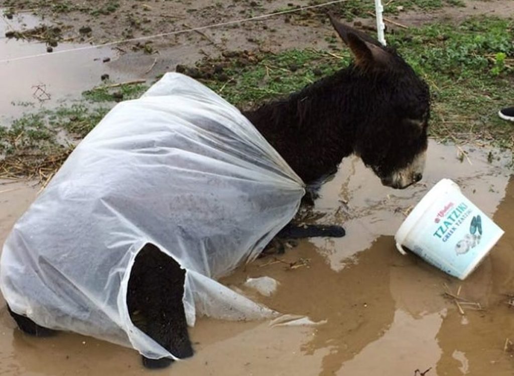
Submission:
[[[146,244],[134,261],[127,294],[134,325],[180,359],[193,355],[182,304],[185,276],[173,258]],[[148,368],[163,368],[172,362],[143,356]]]

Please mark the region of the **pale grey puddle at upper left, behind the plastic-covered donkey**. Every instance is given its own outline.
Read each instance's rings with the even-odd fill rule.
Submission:
[[[104,74],[113,82],[146,78],[145,72],[154,61],[142,53],[124,55],[110,47],[58,53],[88,46],[69,42],[59,43],[48,53],[45,43],[5,37],[6,31],[25,30],[44,22],[29,13],[14,15],[12,20],[2,13],[0,8],[0,60],[42,56],[0,62],[0,120],[7,121],[31,110],[53,108],[65,99],[80,99],[76,96],[100,85]],[[75,97],[70,93],[75,93]]]

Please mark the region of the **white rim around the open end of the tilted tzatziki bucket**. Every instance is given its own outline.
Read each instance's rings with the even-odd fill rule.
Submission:
[[[419,201],[419,203],[412,209],[409,216],[403,221],[398,231],[396,231],[396,235],[394,236],[394,240],[396,241],[396,248],[402,255],[406,255],[407,253],[403,250],[401,244],[405,241],[409,232],[416,225],[416,223],[424,216],[425,212],[428,210],[432,202],[436,199],[437,195],[442,192],[448,190],[448,188],[457,188],[460,190],[458,185],[454,183],[452,180],[444,178],[437,182],[436,185],[432,187],[430,191],[428,191],[423,199]]]

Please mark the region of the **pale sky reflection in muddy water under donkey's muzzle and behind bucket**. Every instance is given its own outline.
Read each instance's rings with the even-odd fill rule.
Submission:
[[[467,156],[460,156],[461,150]],[[490,154],[489,154],[490,153]],[[512,154],[492,148],[441,145],[430,141],[423,180],[405,190],[384,187],[360,159],[343,161],[336,177],[325,184],[316,210],[326,223],[341,223],[348,236],[314,239],[334,270],[368,248],[380,235],[394,235],[407,213],[440,179],[447,177],[489,216],[503,198],[512,169]]]

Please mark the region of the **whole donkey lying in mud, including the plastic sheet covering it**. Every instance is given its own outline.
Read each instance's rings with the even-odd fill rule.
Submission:
[[[215,278],[291,220],[304,182],[352,153],[382,184],[418,181],[427,85],[392,49],[332,22],[356,63],[285,100],[242,114],[168,74],[109,112],[4,246],[0,286],[18,325],[104,338],[164,366],[192,354],[197,313],[275,314]]]

